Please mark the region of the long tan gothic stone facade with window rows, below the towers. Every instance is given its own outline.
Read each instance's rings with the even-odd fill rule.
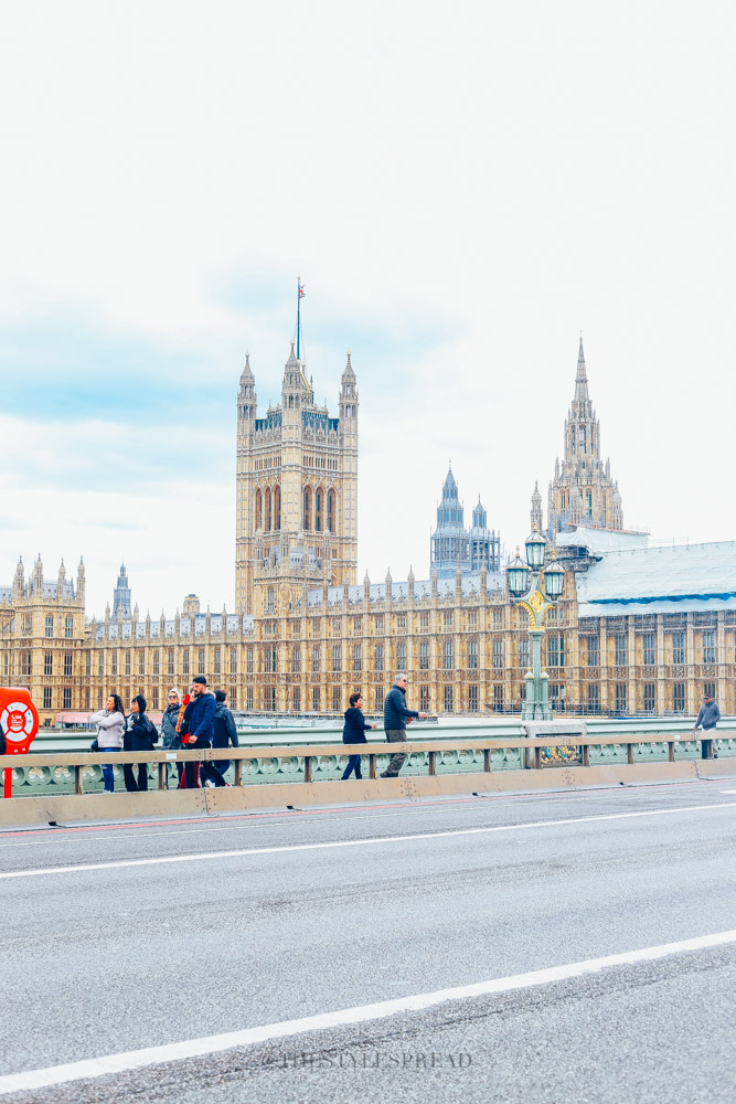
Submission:
[[[683,550],[683,554],[685,554]],[[577,614],[576,573],[547,624],[544,661],[559,709],[596,713],[696,711],[710,686],[736,712],[736,611]],[[529,662],[525,619],[503,578],[410,575],[362,586],[305,587],[263,616],[190,613],[170,619],[84,624],[84,587],[35,576],[0,603],[4,684],[26,686],[42,724],[100,708],[110,690],[143,693],[152,710],[171,686],[204,671],[248,712],[342,712],[361,689],[378,710],[395,670],[409,699],[433,713],[518,710]]]

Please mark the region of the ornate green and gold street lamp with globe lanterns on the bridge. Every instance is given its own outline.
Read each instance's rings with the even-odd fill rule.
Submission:
[[[551,721],[552,708],[547,699],[547,672],[542,670],[542,637],[544,636],[544,615],[555,605],[565,586],[565,570],[555,560],[545,567],[544,555],[547,548],[542,533],[536,531],[524,541],[526,563],[519,555],[506,567],[509,594],[516,605],[529,615],[529,635],[532,640],[532,669],[526,671],[524,680],[526,691],[522,705],[522,721]],[[529,585],[529,573],[532,582]]]

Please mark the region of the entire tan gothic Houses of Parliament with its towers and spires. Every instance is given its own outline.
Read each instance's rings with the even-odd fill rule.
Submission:
[[[572,378],[572,372],[570,372]],[[572,382],[572,380],[570,380]],[[125,566],[113,608],[85,614],[85,566],[49,578],[39,556],[0,587],[0,678],[29,688],[41,723],[99,709],[115,690],[151,710],[194,675],[247,713],[341,713],[360,689],[380,710],[397,670],[412,705],[438,714],[518,711],[526,618],[508,594],[501,538],[480,500],[466,528],[448,471],[428,577],[359,582],[359,389],[348,354],[335,416],[314,402],[294,343],[280,402],[258,416],[249,357],[239,379],[235,603],[173,617],[131,607]],[[736,542],[651,546],[623,528],[621,496],[588,393],[580,340],[563,450],[538,484],[530,528],[566,569],[543,662],[558,711],[693,713],[703,692],[733,713]],[[78,718],[81,719],[81,718]]]

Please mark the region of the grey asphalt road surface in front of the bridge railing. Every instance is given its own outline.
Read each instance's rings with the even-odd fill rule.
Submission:
[[[184,1045],[0,1098],[730,1101],[733,940],[196,1041],[727,932],[735,813],[725,779],[2,832],[0,1093]]]

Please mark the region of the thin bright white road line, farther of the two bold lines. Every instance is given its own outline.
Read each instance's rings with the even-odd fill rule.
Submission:
[[[204,859],[237,859],[250,854],[280,854],[290,851],[321,851],[338,847],[371,847],[381,843],[404,843],[423,839],[446,839],[451,836],[483,836],[494,831],[525,831],[530,828],[554,828],[561,825],[595,824],[599,820],[628,820],[634,817],[662,817],[669,814],[705,813],[711,809],[733,809],[736,802],[713,805],[690,805],[674,809],[646,809],[641,813],[606,813],[593,817],[567,817],[564,820],[533,820],[519,825],[493,825],[490,828],[451,828],[447,831],[416,832],[407,836],[372,836],[367,839],[329,840],[323,843],[286,843],[277,847],[248,847],[235,851],[201,851],[194,854],[169,854],[157,859],[116,859],[114,862],[87,862],[74,867],[41,867],[38,870],[9,870],[0,880],[39,878],[42,874],[74,874],[86,870],[116,870],[121,867],[156,867],[167,862],[199,862]]]

